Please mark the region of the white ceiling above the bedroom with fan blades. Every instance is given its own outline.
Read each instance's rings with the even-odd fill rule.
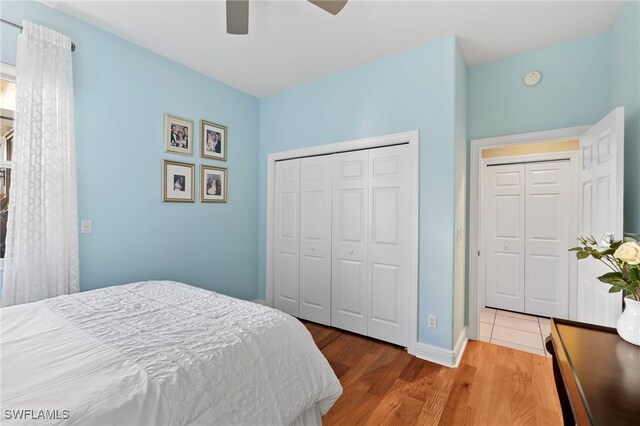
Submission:
[[[45,1],[256,97],[456,35],[474,66],[611,28],[621,1],[251,0],[249,35],[217,1]],[[76,40],[82,49],[82,40]]]

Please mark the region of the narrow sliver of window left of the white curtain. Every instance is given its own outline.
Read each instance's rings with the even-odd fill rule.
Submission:
[[[0,266],[4,264],[9,216],[11,154],[16,111],[15,75],[15,67],[0,63]]]

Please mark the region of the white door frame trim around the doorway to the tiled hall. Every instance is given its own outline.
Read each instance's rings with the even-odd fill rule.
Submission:
[[[482,166],[484,161],[480,152],[487,148],[504,147],[508,145],[522,145],[533,142],[553,142],[566,139],[579,139],[591,126],[569,127],[564,129],[545,130],[541,132],[521,133],[516,135],[499,136],[483,139],[472,139],[470,147],[470,172],[469,172],[469,303],[468,335],[472,340],[480,337],[480,306],[484,304],[484,297],[480,295],[481,264],[478,259],[478,250],[481,247],[481,217],[480,217],[480,189],[482,188]],[[563,154],[562,152],[550,153],[552,155]],[[577,152],[574,153],[576,161],[575,167],[579,170],[580,158]],[[527,156],[533,157],[533,156]],[[564,157],[567,157],[566,152]],[[504,157],[508,158],[508,157]],[[491,160],[496,160],[492,158]],[[485,160],[486,161],[486,160]],[[577,175],[577,173],[576,173]],[[577,183],[576,183],[577,185]],[[576,186],[577,188],[577,186]],[[484,287],[483,289],[484,290]],[[570,292],[571,292],[570,288]],[[571,295],[570,295],[571,298]],[[571,306],[571,305],[570,305]],[[571,315],[571,308],[569,309]]]

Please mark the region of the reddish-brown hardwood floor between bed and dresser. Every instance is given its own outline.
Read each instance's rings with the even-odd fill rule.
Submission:
[[[324,425],[561,425],[551,360],[469,341],[457,369],[303,321],[344,393]]]

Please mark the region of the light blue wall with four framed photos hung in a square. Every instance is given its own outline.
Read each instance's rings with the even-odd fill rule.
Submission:
[[[259,103],[175,62],[37,2],[2,2],[2,17],[71,36],[80,218],[81,289],[174,279],[256,297]],[[17,32],[2,25],[2,60]],[[6,47],[8,46],[8,47]],[[163,114],[229,128],[228,161],[163,152]],[[229,168],[227,204],[161,202],[161,159]],[[199,170],[196,169],[196,196]]]

